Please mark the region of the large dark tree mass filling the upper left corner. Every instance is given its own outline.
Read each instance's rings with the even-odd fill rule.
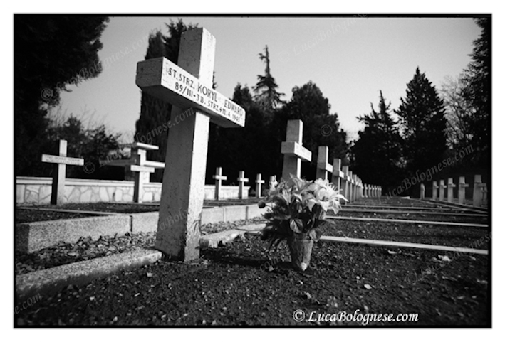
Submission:
[[[16,175],[31,176],[66,85],[95,78],[107,17],[14,15],[14,137]]]

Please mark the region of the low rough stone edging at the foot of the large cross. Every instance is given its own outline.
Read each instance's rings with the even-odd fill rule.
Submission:
[[[259,230],[263,226],[264,224],[244,225],[232,230],[202,235],[199,245],[209,248],[225,245],[235,240],[236,237],[242,237],[245,233]],[[16,276],[16,295],[18,301],[37,294],[51,296],[68,285],[79,287],[93,279],[107,277],[121,269],[132,269],[152,264],[161,258],[162,252],[142,248],[133,252],[118,253],[21,274]]]

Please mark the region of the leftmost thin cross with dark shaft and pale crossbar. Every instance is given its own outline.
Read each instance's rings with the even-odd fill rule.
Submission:
[[[51,204],[65,203],[65,178],[67,165],[84,165],[84,159],[67,156],[67,141],[58,141],[58,156],[42,155],[43,163],[53,163],[53,184],[51,187]]]

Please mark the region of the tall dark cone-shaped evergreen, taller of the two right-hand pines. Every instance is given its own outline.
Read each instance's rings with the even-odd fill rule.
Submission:
[[[395,112],[400,117],[400,129],[405,140],[407,171],[425,171],[442,161],[447,149],[444,102],[419,68],[407,84],[407,95],[400,98],[400,102]]]

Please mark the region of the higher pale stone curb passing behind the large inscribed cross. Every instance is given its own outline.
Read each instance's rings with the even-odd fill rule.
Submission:
[[[202,224],[249,220],[265,212],[266,208],[258,208],[256,204],[204,208]],[[16,250],[35,252],[61,241],[75,243],[80,237],[98,239],[100,235],[155,232],[158,218],[158,212],[151,212],[17,223]]]

